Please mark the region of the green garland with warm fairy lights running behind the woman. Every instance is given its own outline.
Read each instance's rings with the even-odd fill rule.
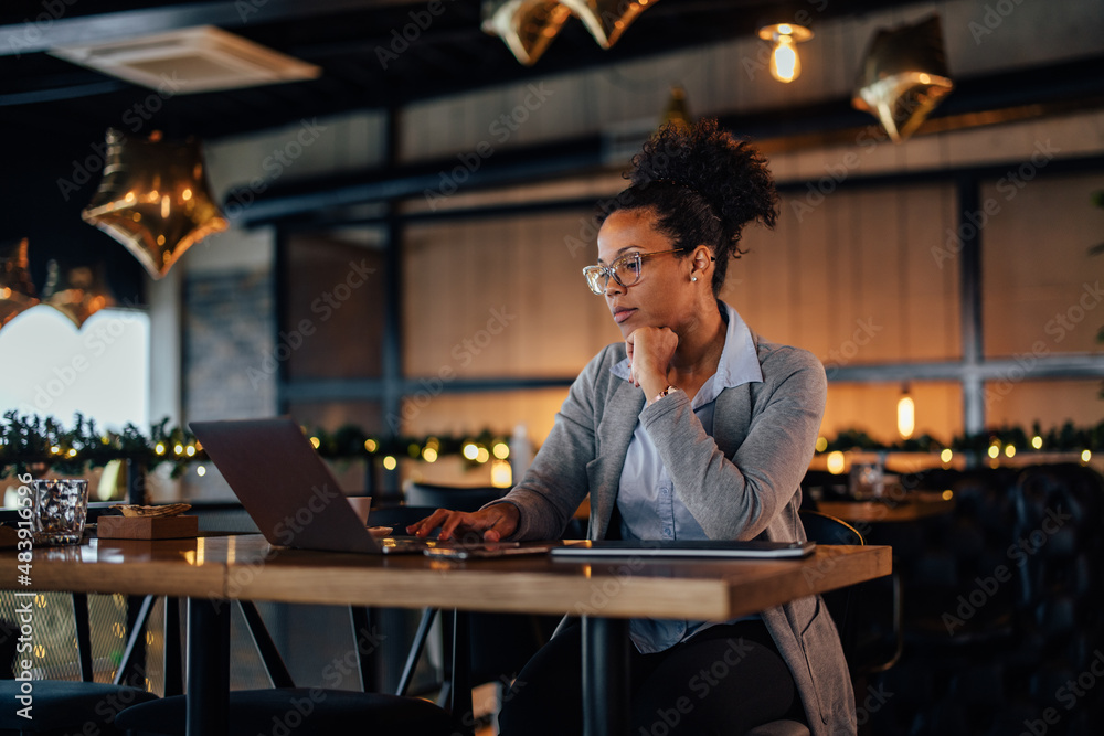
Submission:
[[[333,460],[381,459],[393,469],[399,458],[434,461],[438,457],[460,455],[467,467],[478,467],[491,458],[507,456],[509,439],[485,429],[475,436],[374,437],[360,427],[346,425],[329,433],[309,433],[319,455]],[[977,435],[955,437],[951,444],[930,435],[887,445],[859,429],[847,429],[834,439],[818,442],[817,452],[864,450],[874,452],[954,452],[985,455],[997,447],[1002,451],[1092,452],[1104,450],[1104,422],[1095,427],[1075,427],[1066,422],[1043,433],[1036,422],[1029,435],[1021,427],[1001,427]],[[54,417],[21,416],[8,412],[0,422],[0,478],[8,474],[41,473],[52,469],[62,474],[81,474],[88,467],[103,467],[112,460],[136,460],[150,470],[172,465],[179,477],[188,466],[209,458],[195,436],[182,427],[169,427],[164,418],[144,434],[128,424],[121,433],[100,431],[93,419],[76,414],[72,429]]]

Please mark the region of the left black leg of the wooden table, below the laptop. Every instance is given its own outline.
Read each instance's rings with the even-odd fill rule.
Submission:
[[[225,736],[230,601],[188,599],[188,736]]]

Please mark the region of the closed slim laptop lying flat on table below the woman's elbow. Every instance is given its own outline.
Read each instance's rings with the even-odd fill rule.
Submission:
[[[722,540],[607,540],[552,550],[558,559],[655,557],[682,559],[793,559],[807,557],[815,542],[728,542]]]

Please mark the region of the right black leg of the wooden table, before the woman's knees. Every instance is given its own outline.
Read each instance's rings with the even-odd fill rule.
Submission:
[[[583,617],[583,734],[628,734],[628,621]]]

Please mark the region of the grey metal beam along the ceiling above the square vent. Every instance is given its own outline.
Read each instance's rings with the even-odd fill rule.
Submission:
[[[85,15],[54,15],[45,6],[21,23],[0,25],[0,56],[33,54],[61,46],[105,43],[194,25],[230,29],[332,13],[418,4],[420,0],[238,0],[191,2]],[[79,8],[77,8],[79,10]]]

